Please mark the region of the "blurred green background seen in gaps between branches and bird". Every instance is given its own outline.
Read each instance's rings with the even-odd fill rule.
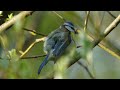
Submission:
[[[0,24],[4,23],[8,15],[17,15],[19,11],[3,11],[0,16]],[[65,19],[72,21],[80,30],[84,28],[86,11],[57,11]],[[111,11],[114,16],[118,16],[120,11]],[[87,32],[95,39],[100,37],[107,26],[114,20],[106,11],[91,11],[88,21]],[[50,61],[43,68],[41,74],[37,75],[37,70],[44,57],[34,59],[20,59],[18,51],[25,51],[31,43],[40,35],[33,35],[22,28],[36,30],[39,33],[48,35],[51,31],[63,24],[63,20],[52,11],[35,11],[32,15],[18,21],[1,34],[0,38],[0,78],[5,79],[38,79],[46,78],[53,69],[53,62]],[[118,25],[102,42],[112,51],[120,53],[120,25]],[[80,40],[80,39],[79,39]],[[79,41],[78,40],[78,41]],[[16,52],[17,51],[17,52]],[[12,54],[11,60],[7,59],[8,53]],[[43,55],[43,42],[37,43],[26,55]],[[120,78],[120,60],[110,53],[96,46],[92,50],[94,73],[97,79],[117,79]],[[120,55],[120,54],[119,54]],[[65,71],[67,79],[90,79],[88,73],[78,63],[75,63]]]

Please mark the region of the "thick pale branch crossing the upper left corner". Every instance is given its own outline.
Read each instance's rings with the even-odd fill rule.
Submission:
[[[0,26],[0,34],[5,31],[7,28],[9,28],[10,26],[12,26],[13,24],[15,24],[18,20],[25,18],[28,15],[31,15],[31,13],[33,13],[33,11],[22,11],[20,12],[18,15],[14,16],[12,19],[10,19],[9,21],[3,23]]]

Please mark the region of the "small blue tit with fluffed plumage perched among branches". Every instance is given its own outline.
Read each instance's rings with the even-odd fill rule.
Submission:
[[[38,69],[38,74],[40,74],[42,68],[50,59],[56,60],[63,54],[72,41],[70,35],[71,32],[77,33],[73,23],[65,22],[46,37],[44,42],[44,52],[46,52],[47,55]]]

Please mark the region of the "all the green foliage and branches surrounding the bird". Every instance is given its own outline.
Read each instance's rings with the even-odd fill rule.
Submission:
[[[45,37],[68,20],[75,44],[54,64],[46,56]],[[0,78],[120,78],[119,11],[0,11]]]

